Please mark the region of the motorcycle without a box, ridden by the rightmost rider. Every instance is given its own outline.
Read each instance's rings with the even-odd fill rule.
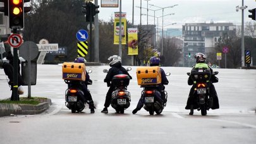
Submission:
[[[214,71],[213,75],[217,75],[219,72]],[[207,115],[210,107],[212,107],[213,99],[210,97],[210,77],[211,73],[209,69],[198,68],[193,69],[191,73],[186,73],[186,75],[191,76],[193,82],[193,107],[191,109],[197,109],[201,111],[202,116]]]

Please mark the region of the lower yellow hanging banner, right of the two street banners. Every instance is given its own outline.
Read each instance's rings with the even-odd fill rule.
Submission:
[[[128,55],[138,55],[137,28],[128,28]]]

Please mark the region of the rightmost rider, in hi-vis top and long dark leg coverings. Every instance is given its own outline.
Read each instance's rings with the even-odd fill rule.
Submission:
[[[197,61],[197,63],[205,63],[205,59],[206,56],[205,54],[202,54],[200,52],[198,52],[197,54],[195,54],[195,59]],[[209,83],[209,88],[210,88],[210,97],[212,97],[213,99],[213,104],[212,107],[210,107],[211,109],[219,109],[219,99],[217,97],[217,92],[215,90],[215,87],[212,83],[217,83],[219,81],[219,79],[214,75],[213,70],[210,66],[208,66],[210,69],[210,73],[212,74],[210,76],[210,83]],[[195,68],[195,65],[192,67],[192,69]],[[193,85],[193,80],[191,78],[191,76],[189,76],[188,78],[188,85]],[[185,109],[190,109],[190,115],[193,115],[193,109],[195,107],[193,107],[193,91],[195,89],[195,86],[192,86],[192,88],[190,89],[190,93],[188,95],[188,101],[186,102],[186,107]]]

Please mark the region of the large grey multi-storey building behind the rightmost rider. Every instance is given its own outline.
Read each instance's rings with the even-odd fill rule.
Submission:
[[[183,66],[191,67],[195,63],[193,56],[197,52],[213,52],[219,37],[235,36],[233,23],[185,23],[182,26],[184,37]]]

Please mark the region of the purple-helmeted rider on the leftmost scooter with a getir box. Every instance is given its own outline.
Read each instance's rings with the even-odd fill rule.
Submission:
[[[77,57],[74,61],[74,63],[86,63],[86,60],[83,57]],[[88,91],[87,84],[92,84],[92,80],[90,80],[90,76],[88,75],[86,71],[86,78],[85,81],[80,81],[83,88],[83,93],[85,93],[85,99],[87,100],[87,103],[89,105],[90,113],[94,113],[94,100],[92,100],[92,95],[90,95],[90,92]]]

